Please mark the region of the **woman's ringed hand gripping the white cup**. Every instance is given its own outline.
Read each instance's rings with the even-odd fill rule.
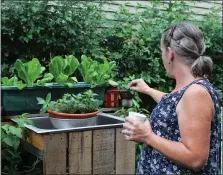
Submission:
[[[149,144],[154,135],[149,120],[143,123],[139,123],[131,117],[126,117],[125,120],[128,123],[123,124],[125,129],[122,130],[122,133],[126,136],[126,139]]]

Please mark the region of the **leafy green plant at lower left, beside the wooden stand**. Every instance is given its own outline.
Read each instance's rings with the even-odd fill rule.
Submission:
[[[1,126],[2,172],[10,175],[19,173],[19,166],[22,162],[20,152],[18,151],[20,139],[26,140],[29,136],[28,130],[24,125],[33,125],[33,122],[27,119],[26,113],[16,118],[16,122],[16,125],[2,123]]]

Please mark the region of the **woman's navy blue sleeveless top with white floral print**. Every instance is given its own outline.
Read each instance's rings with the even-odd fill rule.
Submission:
[[[168,140],[180,142],[176,107],[184,92],[192,84],[204,86],[210,93],[215,107],[214,120],[211,123],[211,143],[206,165],[194,172],[180,166],[148,145],[143,145],[136,174],[217,174],[220,160],[220,107],[212,84],[208,80],[195,80],[184,88],[171,94],[165,94],[151,114],[151,127],[156,135]]]

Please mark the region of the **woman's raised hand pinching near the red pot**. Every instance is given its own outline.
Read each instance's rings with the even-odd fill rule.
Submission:
[[[130,89],[135,90],[137,92],[141,92],[144,94],[148,94],[148,91],[151,89],[143,79],[133,80],[129,84]]]

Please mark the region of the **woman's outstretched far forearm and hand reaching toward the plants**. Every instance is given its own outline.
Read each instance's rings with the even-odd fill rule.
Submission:
[[[141,92],[144,94],[147,94],[149,96],[151,96],[157,103],[160,102],[161,98],[163,97],[164,92],[158,91],[156,89],[153,89],[151,87],[149,87],[143,79],[137,79],[137,80],[133,80],[130,84],[129,84],[130,88],[132,90],[135,90],[137,92]]]

